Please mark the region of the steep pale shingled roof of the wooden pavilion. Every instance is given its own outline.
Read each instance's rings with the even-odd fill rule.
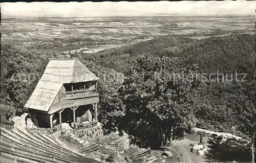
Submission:
[[[50,59],[25,107],[48,111],[63,84],[95,80],[98,78],[77,58]]]

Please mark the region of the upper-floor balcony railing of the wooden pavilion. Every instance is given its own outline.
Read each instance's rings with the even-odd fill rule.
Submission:
[[[79,89],[79,90],[61,92],[61,97],[72,98],[72,97],[80,97],[80,96],[96,95],[96,94],[97,94],[96,89]]]

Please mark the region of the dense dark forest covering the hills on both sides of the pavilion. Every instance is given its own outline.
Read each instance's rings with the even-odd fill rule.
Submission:
[[[96,75],[107,74],[98,84],[99,120],[105,133],[117,127],[145,138],[149,146],[157,138],[159,146],[172,142],[189,125],[214,130],[212,126],[218,124],[219,131],[230,132],[234,127],[234,134],[253,143],[254,38],[237,33],[201,40],[167,35],[76,57]],[[24,105],[49,58],[63,57],[58,52],[2,44],[1,122],[26,112]],[[227,76],[213,82],[211,79],[217,76],[209,78],[209,74],[217,71]],[[154,81],[155,72],[162,80]],[[242,76],[238,76],[239,81],[230,80],[236,72],[247,74],[244,82]],[[206,79],[179,80],[176,84],[173,77],[164,80],[165,75],[173,73],[205,73]],[[34,80],[29,80],[28,74],[35,74]]]

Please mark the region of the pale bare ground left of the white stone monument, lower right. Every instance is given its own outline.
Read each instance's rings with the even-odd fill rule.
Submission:
[[[206,141],[206,138],[204,138]],[[197,155],[196,153],[190,152],[190,149],[193,148],[191,145],[198,144],[200,136],[198,135],[186,135],[182,140],[173,141],[173,147],[182,154],[183,161],[188,160],[189,162],[206,162],[206,159],[202,156]]]

